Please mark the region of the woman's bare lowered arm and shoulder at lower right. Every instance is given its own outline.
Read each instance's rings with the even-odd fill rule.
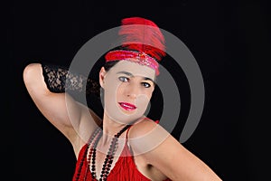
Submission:
[[[135,154],[142,154],[148,165],[159,169],[172,180],[220,180],[201,159],[184,148],[161,126],[154,124],[145,124],[144,129],[149,130],[143,137],[138,137],[138,131],[135,130],[138,127],[134,129],[134,133],[131,132],[134,140],[130,142]]]

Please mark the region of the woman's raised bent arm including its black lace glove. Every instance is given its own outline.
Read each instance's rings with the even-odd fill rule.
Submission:
[[[83,90],[83,77],[67,76],[68,71],[41,63],[31,63],[23,70],[23,81],[37,108],[52,125],[61,131],[72,143],[79,148],[79,136],[85,128],[95,126],[96,115],[85,105],[74,100],[65,93],[67,86],[70,90]],[[72,76],[72,74],[69,74]],[[94,128],[93,128],[94,129]],[[77,152],[77,151],[76,151]]]

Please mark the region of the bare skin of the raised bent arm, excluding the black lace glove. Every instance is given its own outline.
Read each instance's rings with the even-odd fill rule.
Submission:
[[[53,93],[47,89],[40,63],[32,63],[23,71],[23,81],[37,108],[52,125],[70,141],[77,137],[82,112],[88,108],[73,100],[67,93]]]

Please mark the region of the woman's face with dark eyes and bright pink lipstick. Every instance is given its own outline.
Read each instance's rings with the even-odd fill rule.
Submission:
[[[154,91],[154,78],[153,69],[135,62],[117,62],[109,71],[102,68],[99,81],[106,116],[122,124],[142,117]]]

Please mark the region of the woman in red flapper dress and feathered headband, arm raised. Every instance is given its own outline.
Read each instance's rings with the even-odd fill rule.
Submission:
[[[102,119],[65,93],[67,88],[82,89],[84,79],[44,63],[32,63],[23,71],[38,109],[70,140],[78,159],[73,180],[220,180],[145,117],[159,74],[158,61],[165,55],[164,36],[144,18],[126,18],[122,23],[123,45],[107,52],[106,64],[99,71],[104,91]],[[128,24],[145,28],[131,29]],[[93,81],[89,85],[90,90],[97,88]]]

